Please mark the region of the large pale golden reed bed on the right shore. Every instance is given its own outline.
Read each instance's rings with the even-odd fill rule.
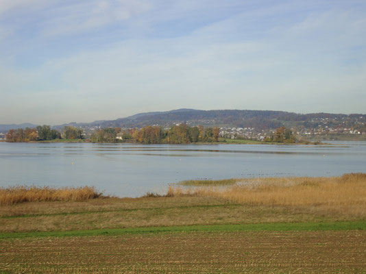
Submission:
[[[169,196],[197,195],[224,198],[236,203],[264,206],[312,207],[331,212],[366,216],[366,174],[350,173],[341,177],[269,177],[243,179],[223,188],[171,186]]]

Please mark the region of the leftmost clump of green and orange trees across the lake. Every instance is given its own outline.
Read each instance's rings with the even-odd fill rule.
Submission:
[[[51,129],[49,125],[38,125],[36,128],[10,129],[5,134],[6,142],[35,142],[55,139],[82,139],[84,138],[83,129],[73,126],[66,126],[62,134],[56,129]]]

